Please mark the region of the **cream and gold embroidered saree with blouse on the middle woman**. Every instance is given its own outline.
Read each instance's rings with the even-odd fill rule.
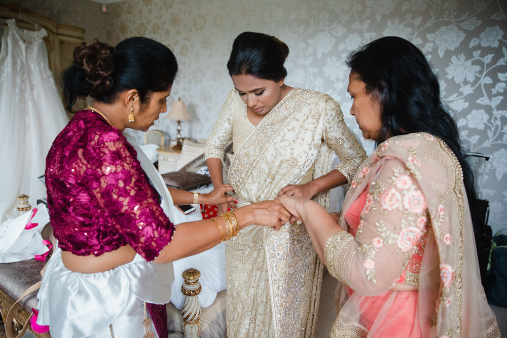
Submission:
[[[237,91],[229,93],[208,138],[206,158],[222,158],[233,138],[229,170],[239,206],[273,199],[287,184],[335,168],[348,180],[366,158],[329,95],[293,89],[253,127]],[[308,176],[309,179],[305,179]],[[327,193],[316,197],[327,207]],[[322,265],[304,224],[280,231],[249,226],[226,244],[227,334],[231,337],[312,336]]]

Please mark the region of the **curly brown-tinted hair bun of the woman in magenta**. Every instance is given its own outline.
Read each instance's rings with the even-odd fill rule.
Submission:
[[[92,84],[90,95],[107,92],[113,86],[114,48],[97,40],[89,45],[84,42],[74,50],[76,67],[83,69],[85,78]]]

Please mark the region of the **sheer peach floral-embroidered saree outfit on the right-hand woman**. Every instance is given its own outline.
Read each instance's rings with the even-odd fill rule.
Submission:
[[[351,182],[343,229],[366,189],[355,237],[337,232],[324,249],[330,273],[343,282],[331,336],[397,337],[405,330],[411,333],[401,336],[499,337],[481,285],[463,174],[449,147],[426,133],[380,144]],[[404,277],[418,245],[420,268]]]

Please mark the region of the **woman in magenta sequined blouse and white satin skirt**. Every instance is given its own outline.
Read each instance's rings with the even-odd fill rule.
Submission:
[[[176,58],[144,37],[115,48],[84,43],[74,58],[62,75],[67,109],[79,96],[92,103],[70,120],[47,156],[48,208],[59,248],[42,280],[37,322],[49,325],[53,337],[141,337],[151,330],[143,304],[169,301],[173,272],[165,263],[228,240],[248,224],[279,228],[289,213],[279,201],[265,201],[175,229],[166,215],[171,196],[157,191],[157,177],[141,167],[123,131],[146,131],[166,111]],[[228,190],[171,194],[175,204],[196,198],[219,204],[232,199]],[[161,335],[163,326],[156,325]]]

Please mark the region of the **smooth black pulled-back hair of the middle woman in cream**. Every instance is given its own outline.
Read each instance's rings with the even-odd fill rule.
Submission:
[[[255,32],[239,34],[227,62],[229,75],[253,75],[259,79],[279,81],[287,76],[283,66],[288,47],[276,37]]]

